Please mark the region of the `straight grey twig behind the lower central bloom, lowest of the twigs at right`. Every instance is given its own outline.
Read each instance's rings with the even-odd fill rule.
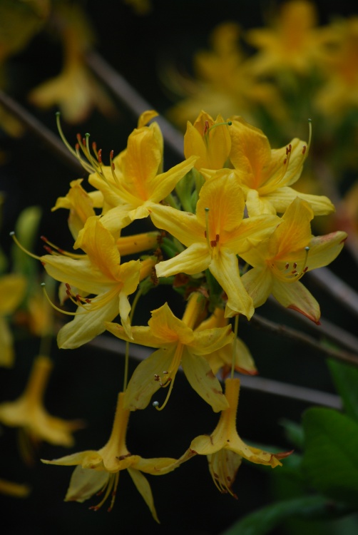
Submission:
[[[124,355],[126,350],[125,342],[106,335],[96,337],[91,342],[88,342],[88,345],[116,353],[116,355]],[[151,352],[152,350],[148,349],[148,347],[137,344],[131,344],[130,346],[131,357],[136,360],[145,360]],[[235,376],[238,375],[235,374]],[[321,392],[312,388],[297,386],[296,384],[266,379],[265,377],[248,377],[242,374],[240,374],[240,382],[243,388],[255,390],[256,392],[297,399],[310,404],[322,405],[323,407],[332,407],[333,409],[342,409],[342,401],[336,394],[329,394],[328,392]]]

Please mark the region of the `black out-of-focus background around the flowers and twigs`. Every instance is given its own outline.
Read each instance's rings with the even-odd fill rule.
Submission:
[[[148,100],[150,107],[165,113],[171,103],[158,80],[160,61],[172,57],[173,61],[185,65],[190,71],[193,54],[208,46],[210,31],[218,23],[235,20],[240,21],[244,28],[260,26],[261,6],[266,3],[153,0],[152,4],[150,14],[143,17],[135,15],[131,7],[119,1],[104,0],[101,4],[88,1],[85,5],[98,36],[99,53],[133,84]],[[332,14],[353,14],[350,4],[348,1],[319,2],[320,21],[327,23]],[[55,76],[60,65],[58,42],[46,33],[36,36],[25,51],[11,59],[9,65],[13,80],[11,95],[54,133],[56,110],[36,110],[26,101],[26,95],[41,81]],[[79,126],[65,124],[63,128],[68,140],[75,143],[78,131],[90,132],[91,138],[103,148],[103,153],[108,154],[112,149],[115,153],[121,151],[136,126],[136,118],[114,96],[113,101],[117,113],[112,118],[103,118],[94,111]],[[19,140],[1,134],[0,142],[7,159],[0,168],[0,190],[6,192],[1,246],[6,251],[10,250],[8,235],[21,210],[29,205],[40,205],[43,217],[39,234],[48,236],[63,248],[71,247],[67,214],[63,210],[51,213],[50,209],[58,196],[67,193],[69,182],[78,178],[78,173],[49,152],[33,134],[27,133]],[[177,156],[169,150],[165,152],[167,168],[177,161]],[[36,241],[35,249],[41,254],[40,240]],[[348,253],[344,252],[333,269],[342,272],[347,265],[352,266],[352,262]],[[354,282],[353,271],[348,277],[349,282]],[[145,296],[143,308],[153,310],[163,302],[163,297],[170,300],[171,293],[166,292],[168,290]],[[332,301],[319,290],[314,289],[314,295],[321,304],[322,315],[354,332],[352,317],[337,305],[332,306]],[[299,322],[287,319],[284,313],[278,313],[271,305],[262,307],[260,313],[300,327]],[[257,332],[245,322],[240,327],[240,335],[250,347],[262,377],[334,392],[323,357],[317,357],[314,352],[292,342]],[[0,401],[15,399],[22,392],[38,350],[37,340],[24,338],[17,342],[18,357],[14,369],[0,370]],[[122,355],[91,346],[59,351],[53,343],[52,356],[56,367],[46,392],[48,411],[63,418],[81,417],[86,420],[88,427],[76,432],[73,452],[102,447],[111,430],[117,392],[123,380]],[[131,366],[134,370],[135,361],[131,362]],[[237,420],[240,435],[252,443],[291,449],[278,420],[288,418],[299,422],[307,407],[309,404],[304,402],[242,389]],[[187,449],[191,439],[198,434],[212,432],[217,419],[218,415],[210,411],[210,407],[180,375],[170,403],[163,412],[148,407],[131,415],[128,449],[143,457],[178,457]],[[29,499],[0,496],[1,533],[4,535],[74,534],[79,531],[88,535],[214,535],[220,534],[240,516],[274,499],[270,491],[270,468],[258,469],[242,464],[234,486],[238,496],[236,501],[231,496],[218,493],[210,478],[206,459],[195,458],[165,477],[149,477],[162,522],[160,526],[151,519],[147,506],[126,473],[121,473],[116,504],[111,514],[106,513],[106,506],[95,513],[88,511],[88,503],[63,503],[71,467],[45,466],[39,460],[34,467],[24,467],[16,449],[16,430],[3,428],[0,439],[1,477],[28,482],[32,487]],[[43,444],[38,457],[52,459],[67,453],[62,448]],[[91,504],[96,504],[96,498],[91,500]]]

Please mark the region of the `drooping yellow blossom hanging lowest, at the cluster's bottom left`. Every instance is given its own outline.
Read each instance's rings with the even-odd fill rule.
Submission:
[[[90,508],[95,511],[103,505],[109,496],[111,496],[111,505],[108,511],[112,509],[116,497],[119,474],[121,470],[128,470],[128,474],[148,505],[153,518],[158,522],[152,491],[142,472],[154,476],[162,474],[163,469],[166,469],[166,472],[170,472],[175,468],[173,466],[175,459],[168,457],[143,459],[139,455],[132,455],[128,452],[126,432],[130,411],[124,407],[123,401],[124,394],[120,392],[118,394],[111,437],[103,448],[98,449],[98,451],[89,449],[85,452],[66,455],[66,457],[53,459],[52,461],[42,459],[42,462],[63,466],[77,465],[72,474],[65,501],[83,502],[94,494],[104,493],[101,502]],[[168,467],[172,468],[168,469]]]

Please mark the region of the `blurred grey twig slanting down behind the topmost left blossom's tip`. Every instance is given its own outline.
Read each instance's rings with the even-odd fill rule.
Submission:
[[[97,52],[88,52],[86,63],[91,68],[91,71],[131,110],[135,117],[139,117],[143,111],[153,109],[153,106],[145,101],[138,91],[126,81],[126,78],[123,78],[121,74],[115,71]],[[183,134],[174,128],[163,116],[155,118],[155,121],[160,126],[165,143],[180,158],[183,158]]]

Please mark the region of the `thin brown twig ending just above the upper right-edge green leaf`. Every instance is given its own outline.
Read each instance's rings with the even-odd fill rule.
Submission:
[[[292,329],[291,327],[287,327],[287,325],[277,325],[277,323],[271,322],[265,317],[259,316],[257,314],[252,316],[250,320],[250,325],[260,327],[268,332],[272,332],[275,335],[287,338],[288,340],[299,342],[301,344],[312,347],[312,349],[316,350],[320,355],[323,355],[324,357],[331,357],[335,360],[347,362],[348,364],[352,364],[358,367],[357,355],[353,355],[352,353],[349,353],[344,350],[334,350],[330,347],[324,346],[317,342],[317,340],[314,340],[314,338],[310,337],[309,335],[306,335],[304,332],[300,332],[295,329]]]

